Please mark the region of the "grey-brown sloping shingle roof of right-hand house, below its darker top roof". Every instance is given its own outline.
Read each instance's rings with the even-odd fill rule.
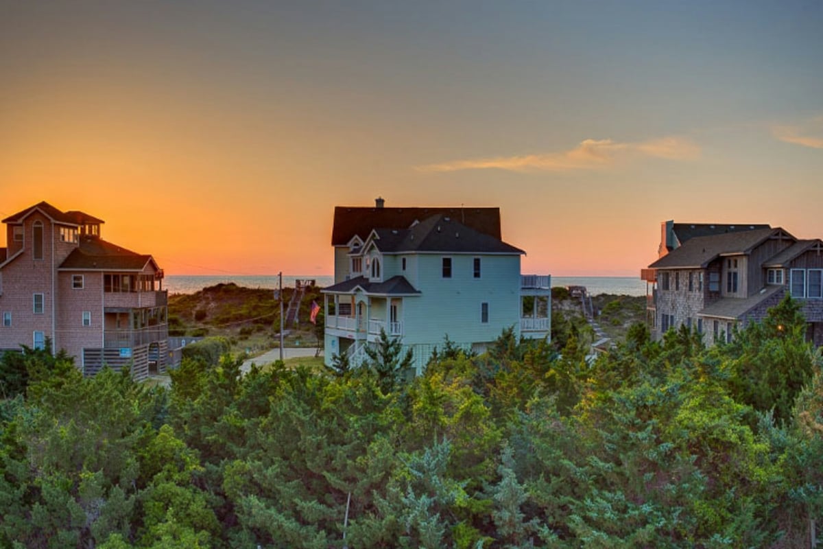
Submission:
[[[754,229],[723,233],[721,235],[697,236],[686,240],[679,248],[649,265],[649,268],[705,268],[720,255],[748,254],[756,245],[773,235],[783,234],[792,238],[786,231],[774,229]]]

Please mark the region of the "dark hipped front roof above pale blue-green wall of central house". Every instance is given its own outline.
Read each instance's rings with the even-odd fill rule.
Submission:
[[[383,253],[437,252],[452,254],[525,254],[494,236],[481,233],[453,217],[437,214],[412,227],[375,229],[374,242]]]

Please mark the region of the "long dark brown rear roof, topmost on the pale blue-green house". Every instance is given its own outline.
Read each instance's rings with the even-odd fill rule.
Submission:
[[[365,240],[373,229],[407,229],[415,221],[444,214],[465,226],[501,239],[499,207],[349,207],[334,208],[332,246],[345,246],[354,235]]]

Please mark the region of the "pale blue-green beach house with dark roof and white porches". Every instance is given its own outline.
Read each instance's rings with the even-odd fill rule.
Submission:
[[[360,364],[381,331],[412,349],[418,374],[446,337],[481,352],[504,328],[551,333],[551,277],[520,274],[525,252],[501,240],[500,208],[336,207],[332,246],[328,365]]]

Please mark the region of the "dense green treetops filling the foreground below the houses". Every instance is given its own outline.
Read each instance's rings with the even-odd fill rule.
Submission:
[[[573,328],[573,327],[572,327]],[[806,547],[821,356],[797,305],[705,348],[641,325],[596,361],[510,331],[412,378],[184,360],[170,390],[0,361],[0,547]],[[344,540],[345,537],[345,540]]]

